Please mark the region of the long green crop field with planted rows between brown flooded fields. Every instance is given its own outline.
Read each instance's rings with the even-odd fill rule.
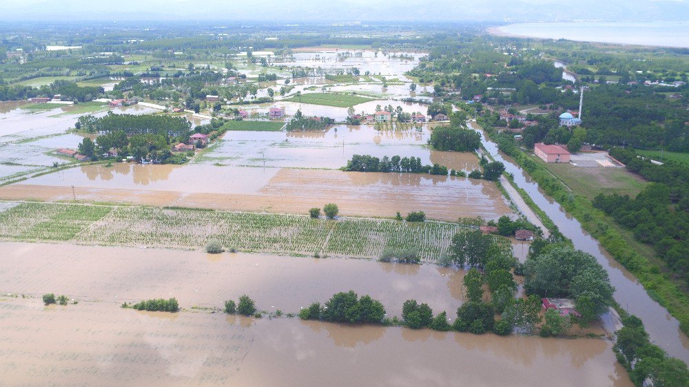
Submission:
[[[203,249],[214,239],[241,251],[354,258],[378,258],[385,247],[415,247],[427,261],[463,230],[444,222],[39,202],[0,213],[0,240]]]

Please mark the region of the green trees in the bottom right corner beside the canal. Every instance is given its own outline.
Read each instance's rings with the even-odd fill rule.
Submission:
[[[613,351],[637,386],[688,386],[689,370],[680,359],[668,357],[662,348],[651,344],[644,324],[635,315],[625,317],[624,327],[615,333]]]

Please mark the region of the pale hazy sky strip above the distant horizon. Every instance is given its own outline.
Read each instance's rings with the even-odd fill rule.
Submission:
[[[689,0],[0,0],[0,21],[689,20]]]

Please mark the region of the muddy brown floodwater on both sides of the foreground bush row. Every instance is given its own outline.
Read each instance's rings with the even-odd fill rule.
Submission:
[[[461,276],[450,269],[67,244],[0,249],[0,282],[17,288],[0,295],[0,372],[10,384],[631,385],[612,343],[602,339],[412,331],[190,308],[202,300],[221,306],[246,292],[260,308],[284,303],[289,311],[344,287],[377,295],[391,313],[413,294],[442,310],[461,303]],[[15,297],[21,289],[64,293],[79,304],[46,307],[39,297]],[[176,296],[185,310],[123,309],[113,293]]]

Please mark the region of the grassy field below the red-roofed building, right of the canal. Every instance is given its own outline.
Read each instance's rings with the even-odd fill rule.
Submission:
[[[624,168],[574,167],[570,164],[547,164],[536,157],[532,159],[544,165],[574,193],[584,195],[590,200],[599,193],[618,193],[634,197],[648,184]]]

